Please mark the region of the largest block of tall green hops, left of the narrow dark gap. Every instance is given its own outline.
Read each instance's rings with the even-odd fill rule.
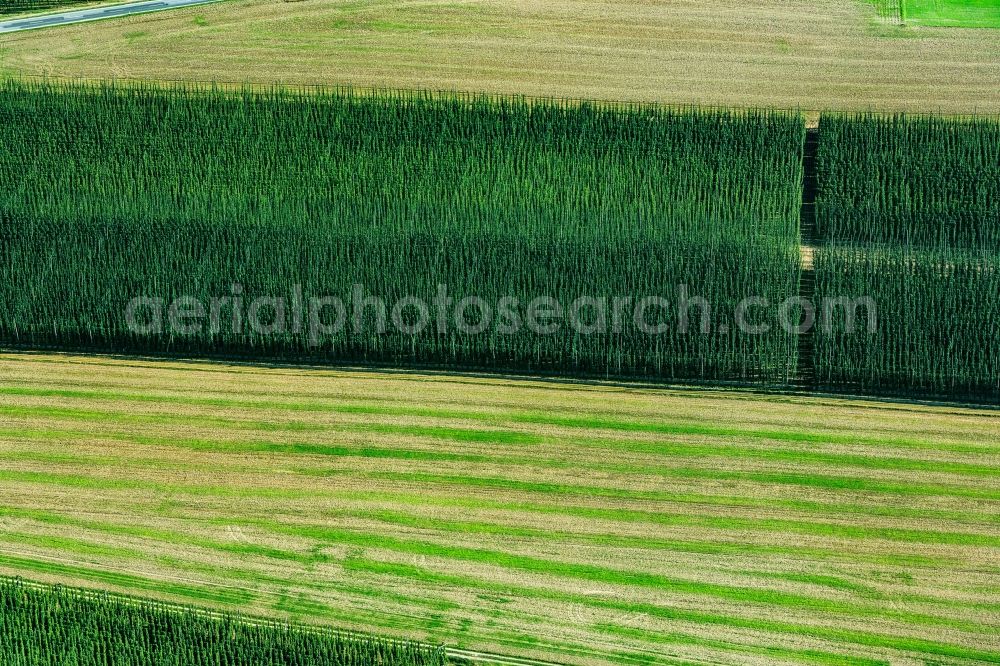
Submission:
[[[730,322],[798,284],[804,128],[776,113],[423,94],[0,89],[0,341],[287,360],[781,383],[793,336]],[[671,300],[657,334],[376,330],[313,345],[204,327],[135,334],[137,296]],[[680,293],[713,308],[679,331]],[[413,323],[408,311],[407,323]],[[478,307],[466,320],[478,322]],[[581,318],[599,324],[600,308]],[[629,314],[631,309],[627,309]],[[333,323],[327,311],[324,323]],[[353,318],[349,311],[348,319]],[[226,315],[228,316],[228,311]],[[607,321],[607,320],[606,320]]]

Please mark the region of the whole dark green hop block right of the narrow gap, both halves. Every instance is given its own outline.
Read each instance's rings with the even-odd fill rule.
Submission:
[[[1000,399],[1000,123],[824,117],[819,299],[877,326],[817,336],[824,386]]]

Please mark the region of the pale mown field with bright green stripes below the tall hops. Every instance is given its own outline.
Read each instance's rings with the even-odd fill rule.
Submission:
[[[0,574],[579,664],[1000,660],[991,411],[7,354],[0,484]]]

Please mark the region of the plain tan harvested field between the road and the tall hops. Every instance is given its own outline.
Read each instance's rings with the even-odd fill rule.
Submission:
[[[227,0],[0,37],[0,72],[996,114],[998,51],[868,0]]]

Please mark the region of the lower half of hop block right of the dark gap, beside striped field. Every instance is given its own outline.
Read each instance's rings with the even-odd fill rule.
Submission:
[[[878,315],[872,334],[839,327],[817,336],[821,384],[990,401],[1000,396],[995,254],[826,247],[816,253],[816,271],[820,293],[870,294]]]

